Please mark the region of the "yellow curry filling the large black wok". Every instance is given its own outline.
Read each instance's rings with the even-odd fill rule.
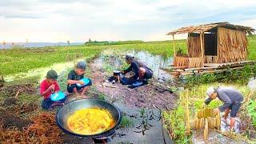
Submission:
[[[114,126],[110,111],[100,108],[77,110],[67,119],[67,125],[77,134],[99,134]]]

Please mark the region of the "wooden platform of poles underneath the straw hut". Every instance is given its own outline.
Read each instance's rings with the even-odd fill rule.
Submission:
[[[177,75],[191,75],[191,74],[207,74],[224,72],[228,69],[237,70],[242,69],[246,65],[255,65],[256,61],[241,61],[241,62],[227,62],[227,63],[205,63],[203,67],[186,68],[182,66],[171,66],[171,74]],[[165,69],[166,70],[166,69]]]

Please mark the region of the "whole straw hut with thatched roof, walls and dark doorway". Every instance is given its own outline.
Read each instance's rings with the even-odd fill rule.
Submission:
[[[232,25],[229,22],[210,23],[200,26],[182,27],[167,35],[188,34],[187,56],[176,54],[174,44],[174,66],[203,67],[205,63],[245,61],[248,41],[246,34],[254,29]]]

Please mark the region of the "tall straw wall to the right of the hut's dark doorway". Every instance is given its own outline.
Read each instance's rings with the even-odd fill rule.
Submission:
[[[218,27],[218,62],[238,62],[247,58],[246,32]]]

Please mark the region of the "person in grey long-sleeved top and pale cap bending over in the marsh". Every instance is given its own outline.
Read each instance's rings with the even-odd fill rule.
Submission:
[[[225,111],[225,114],[223,116],[225,121],[228,114],[230,114],[230,130],[232,130],[234,127],[235,117],[237,116],[238,110],[242,105],[242,94],[238,90],[229,87],[218,87],[217,89],[210,87],[207,90],[206,94],[209,96],[209,98],[207,98],[205,101],[206,105],[208,105],[213,99],[217,97],[220,101],[224,103],[222,106],[214,109],[214,113],[216,114]]]

